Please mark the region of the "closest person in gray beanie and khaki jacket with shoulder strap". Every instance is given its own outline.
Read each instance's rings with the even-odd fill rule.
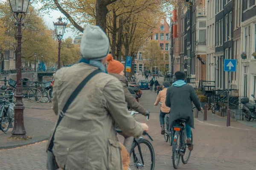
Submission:
[[[87,25],[80,50],[79,64],[54,74],[52,103],[58,123],[47,144],[47,169],[123,170],[115,125],[135,137],[148,126],[130,115],[121,82],[105,73],[105,32]]]

